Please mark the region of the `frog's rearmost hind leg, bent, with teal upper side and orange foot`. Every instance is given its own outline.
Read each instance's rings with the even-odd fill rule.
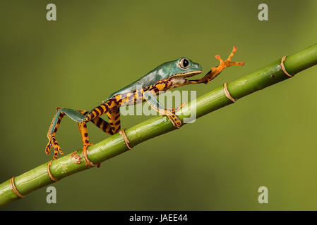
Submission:
[[[85,120],[85,117],[77,110],[72,110],[68,108],[56,108],[56,114],[53,117],[51,125],[49,126],[49,131],[47,131],[47,139],[49,139],[49,143],[47,143],[47,146],[45,148],[45,153],[47,155],[49,155],[51,148],[54,148],[54,160],[57,159],[58,153],[64,155],[64,153],[61,151],[59,143],[56,141],[55,138],[57,129],[59,128],[59,124],[61,123],[61,119],[64,117],[64,115],[67,115],[76,122],[83,122],[83,120]]]

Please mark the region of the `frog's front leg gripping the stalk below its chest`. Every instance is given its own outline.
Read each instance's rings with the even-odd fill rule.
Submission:
[[[184,103],[175,108],[171,109],[165,109],[159,101],[157,101],[157,98],[150,92],[145,91],[143,93],[143,97],[148,102],[148,104],[155,110],[157,113],[160,113],[160,115],[166,115],[169,120],[172,122],[174,127],[180,128],[181,127],[181,120],[175,115],[175,111],[179,110],[182,106],[184,106]]]

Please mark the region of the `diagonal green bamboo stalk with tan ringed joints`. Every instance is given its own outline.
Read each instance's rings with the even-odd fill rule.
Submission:
[[[267,86],[289,79],[289,77],[282,72],[280,62],[280,59],[276,60],[274,63],[271,63],[261,70],[228,83],[229,93],[233,98],[239,99],[255,91],[264,89]],[[287,72],[291,75],[295,75],[301,70],[316,65],[317,44],[299,51],[298,53],[294,53],[292,56],[288,56],[284,64]],[[179,119],[184,120],[185,117],[188,117],[187,115],[196,113],[196,117],[198,118],[229,104],[232,104],[232,101],[225,96],[224,87],[219,86],[213,91],[197,98],[196,101],[186,105],[177,112],[177,115]],[[165,134],[174,129],[176,128],[173,127],[167,117],[156,116],[149,120],[145,120],[130,129],[126,129],[126,135],[128,136],[128,139],[131,140],[130,145],[136,146],[138,143]],[[109,136],[109,138],[96,143],[94,146],[90,146],[88,150],[88,158],[93,163],[98,164],[126,152],[128,148],[124,143],[123,137],[119,134],[114,134],[113,136]],[[81,150],[78,150],[77,154],[83,159]],[[60,180],[66,176],[89,168],[85,166],[84,160],[81,160],[81,163],[77,164],[77,159],[70,158],[70,155],[71,153],[52,162],[50,171],[56,179]],[[47,174],[47,163],[48,162],[35,167],[20,176],[16,176],[14,181],[19,193],[27,195],[32,191],[54,183]],[[0,184],[0,206],[18,199],[19,197],[11,188],[10,180]]]

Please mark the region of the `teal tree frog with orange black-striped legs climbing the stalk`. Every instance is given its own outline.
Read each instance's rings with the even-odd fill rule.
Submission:
[[[49,143],[47,144],[45,152],[49,155],[51,148],[54,148],[54,160],[57,159],[58,153],[61,155],[64,154],[55,138],[56,131],[59,128],[59,124],[64,115],[67,115],[71,120],[78,123],[81,139],[83,140],[83,150],[87,150],[88,146],[92,146],[92,143],[90,143],[88,139],[86,124],[92,122],[105,133],[109,135],[116,134],[121,129],[119,109],[121,106],[125,105],[138,104],[147,101],[154,110],[160,113],[160,115],[167,116],[174,127],[181,127],[181,120],[175,115],[175,112],[179,110],[184,103],[178,108],[165,109],[157,101],[155,96],[162,93],[162,91],[168,91],[186,84],[208,84],[211,80],[215,79],[223,69],[232,65],[244,65],[244,62],[231,62],[236,51],[237,46],[234,46],[232,53],[230,53],[225,61],[223,61],[220,56],[215,56],[215,58],[220,61],[220,65],[216,68],[211,68],[211,70],[201,79],[186,79],[187,77],[198,75],[203,71],[201,65],[198,63],[194,63],[189,58],[181,57],[177,60],[162,63],[157,68],[136,80],[136,82],[110,94],[100,105],[90,111],[56,108],[56,114],[54,115],[49,131],[47,132]],[[107,114],[109,122],[106,122],[100,117],[104,114]],[[124,140],[126,141],[127,138],[125,133],[119,133],[124,136]],[[126,145],[128,146],[127,142]]]

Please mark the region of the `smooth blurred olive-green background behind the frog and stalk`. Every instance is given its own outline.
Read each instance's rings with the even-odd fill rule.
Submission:
[[[56,4],[57,20],[46,20]],[[258,4],[268,4],[268,21]],[[57,106],[86,109],[160,63],[186,56],[204,72],[215,55],[244,68],[180,90],[206,92],[316,44],[317,1],[1,1],[0,181],[51,160]],[[317,67],[1,210],[317,210]],[[145,116],[125,116],[131,127]],[[88,125],[90,140],[107,134]],[[56,136],[81,147],[77,124]],[[258,187],[268,187],[268,204]]]

